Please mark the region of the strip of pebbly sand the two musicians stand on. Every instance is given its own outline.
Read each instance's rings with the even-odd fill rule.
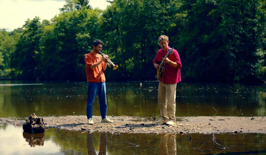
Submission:
[[[266,133],[266,117],[198,116],[178,117],[176,125],[156,124],[152,117],[108,116],[114,123],[101,123],[93,116],[88,125],[86,116],[43,117],[45,126],[66,131],[107,131],[113,133]],[[25,120],[0,118],[0,124],[23,125]]]

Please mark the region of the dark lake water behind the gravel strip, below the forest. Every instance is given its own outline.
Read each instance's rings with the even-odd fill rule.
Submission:
[[[140,86],[140,83],[142,85]],[[86,115],[86,82],[0,81],[0,117]],[[107,115],[160,115],[157,81],[106,83]],[[265,116],[266,85],[178,83],[176,116]],[[98,97],[93,114],[100,116]],[[74,106],[73,106],[74,105]]]

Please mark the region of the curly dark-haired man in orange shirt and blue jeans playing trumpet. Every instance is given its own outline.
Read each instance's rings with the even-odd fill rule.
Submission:
[[[93,51],[85,55],[86,75],[88,82],[88,99],[87,99],[87,118],[88,124],[92,125],[92,108],[96,95],[99,97],[100,112],[102,123],[113,123],[114,121],[106,117],[106,85],[105,75],[107,55],[98,54],[102,49],[103,42],[101,40],[93,41]]]

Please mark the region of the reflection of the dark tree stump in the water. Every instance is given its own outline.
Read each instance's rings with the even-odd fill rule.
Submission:
[[[43,146],[45,140],[45,134],[44,133],[30,134],[23,132],[23,138],[26,139],[26,142],[28,142],[31,147],[35,147],[36,145]]]

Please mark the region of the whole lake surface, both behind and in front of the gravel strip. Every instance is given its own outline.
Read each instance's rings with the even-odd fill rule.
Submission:
[[[106,82],[108,116],[155,117],[157,81]],[[0,117],[86,115],[88,85],[70,81],[0,81]],[[266,85],[178,83],[176,116],[265,116]],[[93,115],[99,116],[98,97]],[[128,134],[58,130],[23,133],[0,125],[0,154],[266,154],[266,134]],[[127,143],[128,142],[128,143]],[[135,146],[139,145],[139,146]]]

